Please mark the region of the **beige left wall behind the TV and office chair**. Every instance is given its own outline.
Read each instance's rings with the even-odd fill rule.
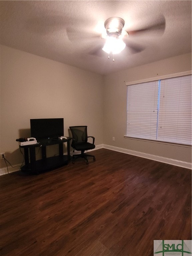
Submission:
[[[69,126],[87,125],[95,144],[103,143],[103,76],[6,46],[0,50],[0,153],[12,165],[23,160],[16,139],[30,136],[30,118],[64,118],[65,136]],[[54,150],[48,147],[48,156]]]

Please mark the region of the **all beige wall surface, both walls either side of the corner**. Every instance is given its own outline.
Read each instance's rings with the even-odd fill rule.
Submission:
[[[23,158],[15,141],[30,136],[30,118],[64,118],[70,125],[88,125],[95,144],[191,162],[189,147],[124,138],[125,82],[191,70],[191,54],[161,60],[105,77],[1,46],[0,152],[11,164]],[[115,141],[112,141],[115,137]],[[48,156],[57,148],[48,147]],[[40,155],[38,155],[40,157]],[[1,160],[0,168],[5,167]]]

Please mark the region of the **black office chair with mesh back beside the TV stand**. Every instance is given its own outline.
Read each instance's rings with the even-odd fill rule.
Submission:
[[[72,163],[74,164],[74,160],[76,158],[85,158],[86,164],[89,164],[87,160],[87,156],[93,157],[93,160],[95,161],[95,156],[85,154],[85,150],[94,149],[95,145],[95,138],[93,136],[87,136],[87,126],[70,126],[69,127],[72,133],[72,143],[71,147],[77,151],[81,151],[81,154],[73,155],[72,157]],[[89,143],[87,142],[88,138],[92,138],[93,142]],[[74,152],[73,150],[73,152]]]

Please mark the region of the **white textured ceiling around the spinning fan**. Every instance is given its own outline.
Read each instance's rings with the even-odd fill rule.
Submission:
[[[191,52],[191,1],[0,1],[0,43],[51,60],[107,74]],[[164,16],[164,33],[130,35],[115,61],[102,51],[109,17],[125,30],[151,27]]]

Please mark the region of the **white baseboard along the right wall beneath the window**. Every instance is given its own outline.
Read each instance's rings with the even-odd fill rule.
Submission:
[[[125,148],[118,148],[118,147],[105,145],[105,144],[103,144],[103,148],[118,151],[118,152],[129,154],[129,155],[134,155],[134,156],[151,159],[151,160],[166,163],[166,164],[176,165],[176,166],[180,166],[180,167],[187,168],[187,169],[192,169],[192,164],[188,163],[188,162],[183,162],[183,161],[166,158],[166,157],[162,157],[162,156],[151,155],[151,154],[142,153],[142,152],[129,150],[129,149],[125,149]]]

